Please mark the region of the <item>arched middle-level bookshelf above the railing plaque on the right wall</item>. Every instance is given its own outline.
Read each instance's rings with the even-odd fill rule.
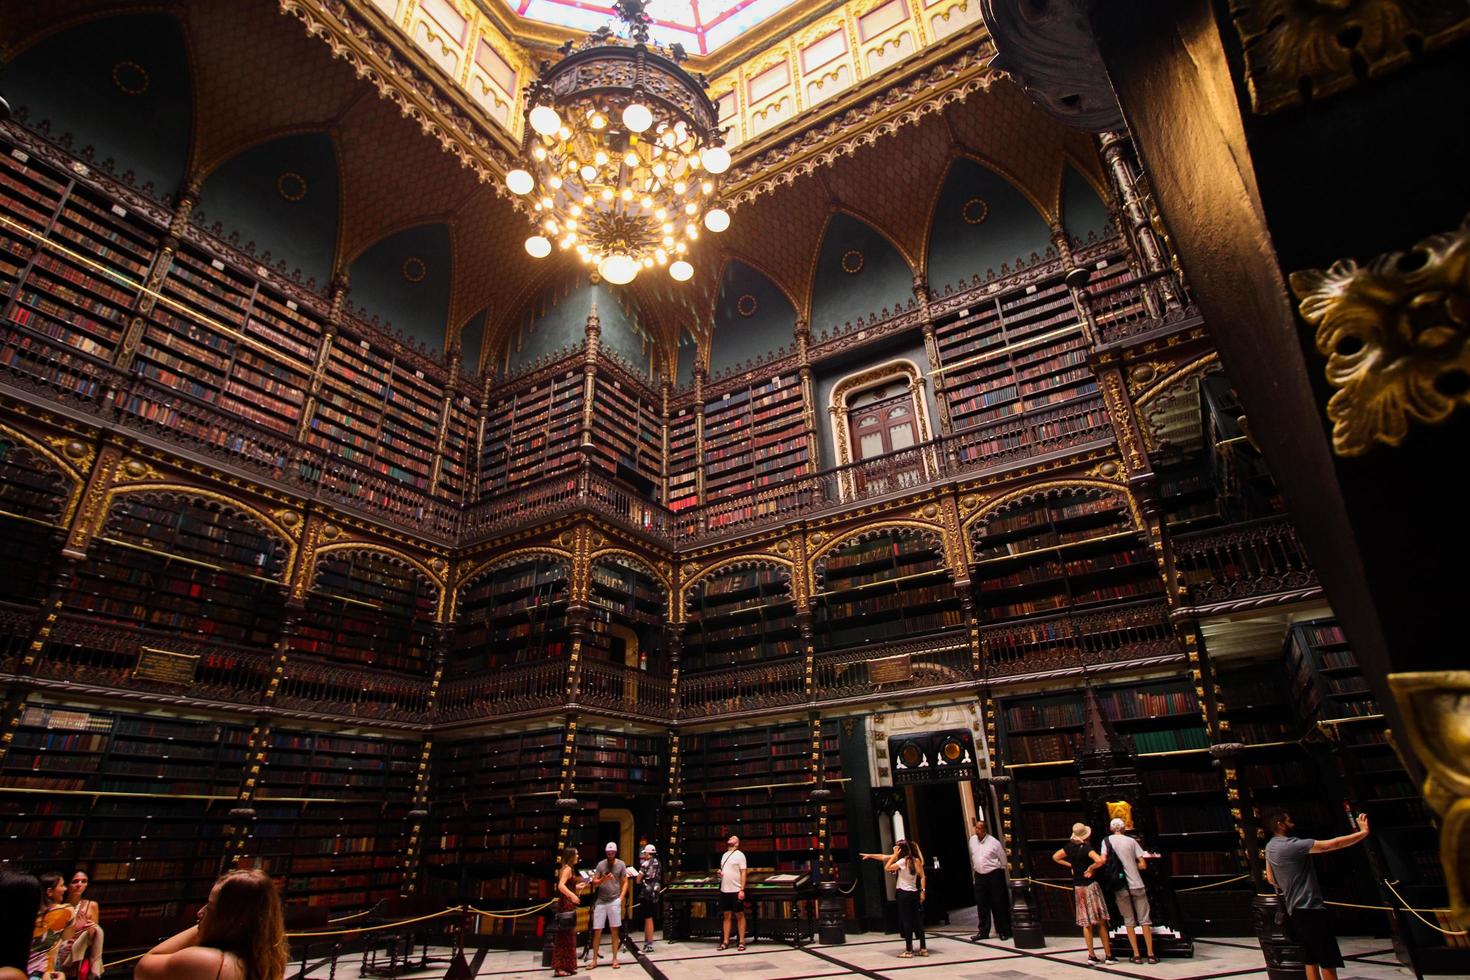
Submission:
[[[954,629],[960,594],[933,536],[898,529],[864,533],[822,555],[811,597],[813,636],[833,649]]]

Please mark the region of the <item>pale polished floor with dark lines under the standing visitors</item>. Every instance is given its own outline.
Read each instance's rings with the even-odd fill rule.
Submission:
[[[603,980],[817,980],[819,977],[870,977],[873,980],[1083,980],[1085,977],[1135,977],[1138,980],[1266,980],[1261,951],[1254,939],[1195,940],[1192,959],[1163,959],[1158,965],[1133,965],[1122,959],[1113,967],[1086,965],[1086,946],[1080,937],[1051,937],[1044,949],[1014,949],[1008,942],[970,942],[967,934],[941,929],[929,936],[928,958],[901,959],[903,940],[894,936],[853,936],[841,946],[803,946],[800,949],[753,943],[745,952],[734,948],[717,952],[713,942],[659,940],[651,954],[629,954],[623,948],[619,970],[612,970],[603,940],[601,965],[591,971]],[[1342,980],[1398,980],[1413,973],[1394,959],[1394,952],[1382,939],[1344,939],[1342,952],[1348,964],[1339,971]],[[550,977],[541,967],[538,952],[487,951],[466,956],[476,977],[517,980],[520,977]],[[288,977],[297,974],[288,971]],[[406,979],[442,977],[444,967],[423,973],[401,974]],[[579,977],[588,976],[584,968]],[[328,965],[313,965],[309,980],[326,980]],[[344,959],[334,980],[357,980],[357,961]]]

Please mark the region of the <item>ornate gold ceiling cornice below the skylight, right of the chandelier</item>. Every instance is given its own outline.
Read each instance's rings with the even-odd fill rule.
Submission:
[[[995,46],[989,35],[969,37],[933,48],[903,65],[894,75],[879,75],[822,110],[798,116],[791,128],[736,150],[739,162],[726,178],[729,210],[789,185],[795,178],[832,166],[841,157],[897,134],[945,106],[986,91],[1005,73],[991,68]]]

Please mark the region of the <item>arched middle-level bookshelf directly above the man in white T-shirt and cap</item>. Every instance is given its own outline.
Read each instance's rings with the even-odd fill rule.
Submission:
[[[791,570],[751,563],[717,572],[689,589],[685,671],[722,670],[801,655]]]

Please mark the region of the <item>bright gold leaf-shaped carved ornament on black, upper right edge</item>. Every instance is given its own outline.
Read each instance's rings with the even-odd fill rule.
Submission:
[[[1399,445],[1410,422],[1438,425],[1470,403],[1470,217],[1367,266],[1294,272],[1291,288],[1327,357],[1338,455]]]

